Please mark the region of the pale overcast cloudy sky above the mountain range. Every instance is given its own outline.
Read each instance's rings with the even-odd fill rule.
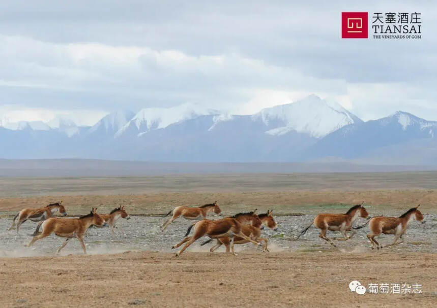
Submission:
[[[342,11],[422,13],[421,40],[342,40]],[[186,102],[249,114],[310,93],[437,120],[432,2],[2,1],[0,118],[93,124]]]

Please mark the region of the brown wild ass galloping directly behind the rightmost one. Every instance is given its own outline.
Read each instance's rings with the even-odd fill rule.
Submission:
[[[366,209],[363,207],[363,202],[361,204],[357,204],[350,208],[345,214],[319,214],[314,218],[314,221],[306,227],[297,237],[301,237],[301,235],[305,234],[305,232],[311,227],[313,224],[321,229],[322,231],[318,235],[320,238],[325,239],[329,244],[334,247],[337,247],[330,238],[326,236],[326,231],[340,231],[343,234],[343,237],[334,238],[338,241],[346,241],[351,238],[355,232],[353,232],[350,236],[347,236],[346,231],[351,231],[352,223],[358,218],[368,218],[369,213],[367,213]]]

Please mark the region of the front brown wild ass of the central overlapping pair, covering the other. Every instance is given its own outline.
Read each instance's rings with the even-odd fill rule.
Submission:
[[[253,213],[252,216],[253,216],[252,225],[259,227],[261,225],[261,221],[258,218],[258,215]],[[194,226],[193,236],[188,236],[193,226]],[[187,233],[185,233],[185,238],[180,243],[174,245],[172,249],[178,248],[182,244],[187,243],[185,244],[184,247],[182,247],[180,251],[176,253],[176,256],[179,257],[179,255],[181,255],[184,252],[184,250],[188,248],[188,246],[193,244],[197,239],[199,239],[203,235],[208,235],[211,238],[220,238],[220,237],[228,236],[231,237],[231,241],[230,241],[231,252],[236,256],[237,254],[234,251],[234,239],[236,236],[240,236],[241,238],[246,239],[250,243],[259,245],[258,242],[253,241],[242,232],[242,227],[243,224],[241,224],[237,219],[231,217],[226,217],[218,220],[203,219],[192,224],[188,228]]]

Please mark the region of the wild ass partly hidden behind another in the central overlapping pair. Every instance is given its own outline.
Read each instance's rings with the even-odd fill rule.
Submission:
[[[261,220],[261,223],[263,224],[263,226],[267,226],[270,229],[276,230],[278,228],[278,224],[276,223],[275,219],[273,218],[272,212],[273,212],[272,210],[269,210],[269,211],[267,211],[266,214],[259,214],[258,217]],[[260,227],[254,227],[253,225],[243,225],[242,231],[246,236],[250,237],[254,241],[257,241],[257,242],[263,241],[264,242],[263,252],[269,252],[269,249],[267,248],[268,239],[265,237],[261,237],[261,228]],[[200,246],[208,244],[212,240],[213,239],[211,238],[208,241],[200,244]],[[248,243],[248,241],[244,238],[237,236],[235,238],[234,243],[235,244],[246,244],[246,243]],[[229,237],[217,238],[216,245],[211,247],[210,251],[211,252],[215,251],[217,248],[219,248],[223,244],[226,247],[226,252],[229,252],[229,248],[230,248],[230,238]]]

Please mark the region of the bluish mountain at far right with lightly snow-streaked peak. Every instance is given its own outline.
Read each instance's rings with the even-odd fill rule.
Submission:
[[[420,159],[423,151],[437,146],[436,121],[427,121],[410,113],[398,111],[388,117],[344,126],[319,140],[308,148],[303,156],[315,159],[320,152],[325,156],[346,159],[373,157],[374,161],[389,160],[391,163],[399,153],[416,153],[411,163],[431,163],[428,158]],[[424,149],[424,145],[428,149]],[[390,150],[388,149],[390,148]],[[385,153],[379,149],[386,149]],[[378,154],[376,154],[378,153]],[[386,157],[383,157],[386,156]],[[435,160],[435,158],[434,158]]]

